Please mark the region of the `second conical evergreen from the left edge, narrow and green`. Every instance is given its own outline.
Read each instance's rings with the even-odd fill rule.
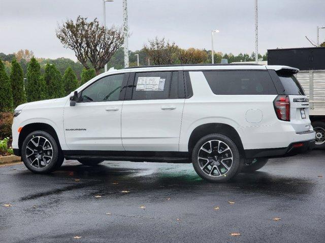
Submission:
[[[24,72],[16,59],[13,59],[11,62],[10,82],[14,107],[26,103],[26,95],[24,91]]]

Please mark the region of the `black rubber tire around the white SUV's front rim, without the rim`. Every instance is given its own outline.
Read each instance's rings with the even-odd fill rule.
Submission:
[[[51,143],[52,149],[53,149],[52,160],[51,160],[50,164],[44,169],[38,169],[38,168],[30,165],[28,162],[28,159],[26,157],[27,143],[29,142],[29,140],[31,138],[37,137],[37,136],[42,136],[42,137],[46,138]],[[24,142],[22,143],[21,159],[22,159],[23,163],[25,164],[25,166],[27,167],[27,169],[30,170],[31,172],[34,172],[37,174],[46,174],[46,173],[52,172],[53,170],[55,170],[56,164],[58,162],[58,146],[57,146],[55,139],[52,137],[52,135],[50,135],[49,133],[44,132],[44,131],[36,131],[36,132],[32,132],[32,133],[28,134],[27,137],[24,139]]]

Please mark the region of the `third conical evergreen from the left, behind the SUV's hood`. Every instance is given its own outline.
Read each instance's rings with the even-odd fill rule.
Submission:
[[[32,57],[27,67],[27,84],[25,87],[27,101],[38,101],[46,99],[45,83],[41,76],[41,66]]]

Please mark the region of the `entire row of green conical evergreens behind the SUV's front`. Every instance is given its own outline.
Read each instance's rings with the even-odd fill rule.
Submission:
[[[11,112],[20,104],[38,100],[60,98],[70,94],[80,85],[93,78],[94,69],[83,69],[79,83],[76,74],[68,67],[61,76],[54,64],[46,64],[44,74],[33,57],[27,67],[27,82],[20,64],[14,59],[8,76],[0,60],[0,112]]]

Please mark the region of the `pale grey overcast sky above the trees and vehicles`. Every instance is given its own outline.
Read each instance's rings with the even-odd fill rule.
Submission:
[[[316,26],[325,25],[324,0],[258,0],[259,53],[267,49],[310,47]],[[103,20],[102,0],[0,0],[0,52],[32,50],[36,57],[68,57],[55,36],[58,23],[78,15]],[[107,25],[122,25],[122,0],[106,3]],[[129,49],[165,36],[182,48],[238,54],[254,51],[254,0],[128,0]],[[320,30],[321,42],[325,29]]]

